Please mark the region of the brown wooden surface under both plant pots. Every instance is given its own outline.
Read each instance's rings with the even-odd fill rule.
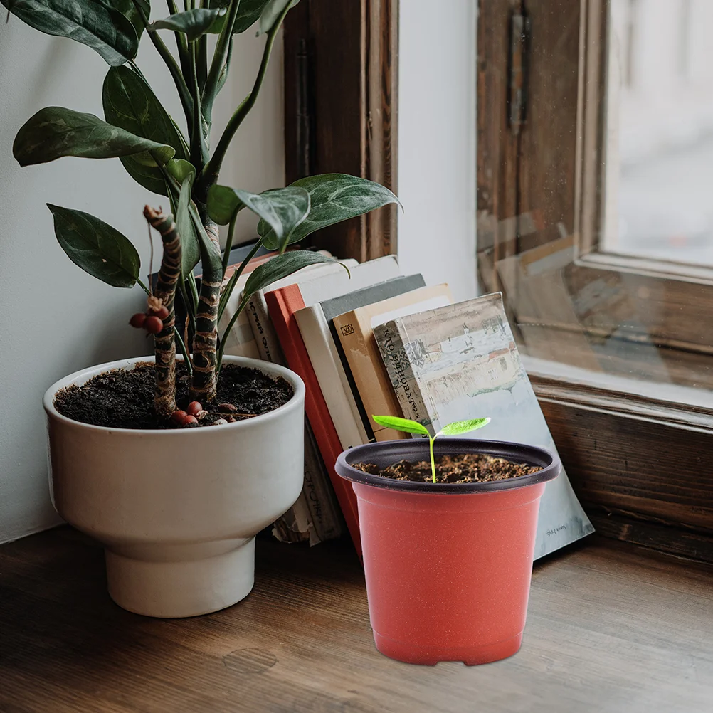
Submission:
[[[151,620],[67,528],[0,547],[2,713],[711,713],[713,571],[590,541],[535,567],[515,657],[417,667],[374,650],[347,546],[261,542],[217,614]]]

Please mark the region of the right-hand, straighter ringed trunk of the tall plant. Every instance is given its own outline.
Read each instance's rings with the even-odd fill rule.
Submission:
[[[205,232],[217,247],[220,255],[218,227],[212,221],[206,221]],[[220,287],[222,284],[222,265],[212,267],[203,261],[203,275],[200,280],[198,309],[195,313],[195,337],[193,339],[193,380],[190,397],[202,404],[210,404],[217,393],[217,341],[218,341],[218,306],[220,305]]]

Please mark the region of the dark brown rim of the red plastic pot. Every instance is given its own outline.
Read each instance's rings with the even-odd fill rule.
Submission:
[[[335,468],[344,480],[353,483],[386,488],[386,490],[410,493],[493,493],[496,491],[525,488],[536,483],[545,483],[560,474],[560,459],[556,453],[538,446],[525,446],[523,443],[507,441],[478,441],[472,438],[437,438],[434,443],[434,455],[462,456],[466,453],[485,453],[496,458],[507,458],[515,463],[528,463],[540,466],[541,470],[528,476],[507,478],[490,483],[420,483],[416,481],[395,481],[382,476],[372,476],[352,467],[352,463],[374,463],[379,468],[386,468],[401,460],[426,461],[430,459],[429,441],[426,438],[404,439],[402,441],[383,441],[365,443],[344,451]]]

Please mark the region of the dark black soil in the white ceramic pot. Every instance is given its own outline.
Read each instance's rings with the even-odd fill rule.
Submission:
[[[54,406],[68,419],[113,429],[175,429],[211,426],[217,419],[242,421],[273,411],[292,398],[292,386],[284,379],[273,379],[257,369],[225,364],[220,370],[218,395],[194,426],[177,426],[153,410],[153,364],[140,361],[134,369],[114,369],[83,384],[58,392]],[[176,367],[178,408],[188,406],[188,371]]]

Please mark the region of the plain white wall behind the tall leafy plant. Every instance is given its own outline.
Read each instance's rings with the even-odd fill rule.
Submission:
[[[160,13],[160,11],[159,11]],[[168,39],[167,39],[168,40]],[[252,86],[262,39],[247,31],[216,107],[214,136]],[[183,124],[173,83],[144,38],[138,63]],[[103,361],[147,354],[128,327],[142,307],[138,287],[109,287],[73,265],[58,246],[45,203],[91,212],[135,242],[148,272],[142,209],[160,205],[124,172],[118,159],[62,158],[19,168],[12,157],[18,128],[43,106],[67,106],[103,117],[108,66],[91,49],[48,37],[14,16],[0,22],[0,542],[56,523],[48,497],[41,397],[53,381]],[[215,139],[217,140],[217,138]],[[223,183],[260,191],[284,185],[282,50],[275,48],[257,106],[226,160]],[[165,204],[166,199],[163,198]],[[240,226],[247,239],[255,221]],[[156,269],[156,265],[154,269]]]

